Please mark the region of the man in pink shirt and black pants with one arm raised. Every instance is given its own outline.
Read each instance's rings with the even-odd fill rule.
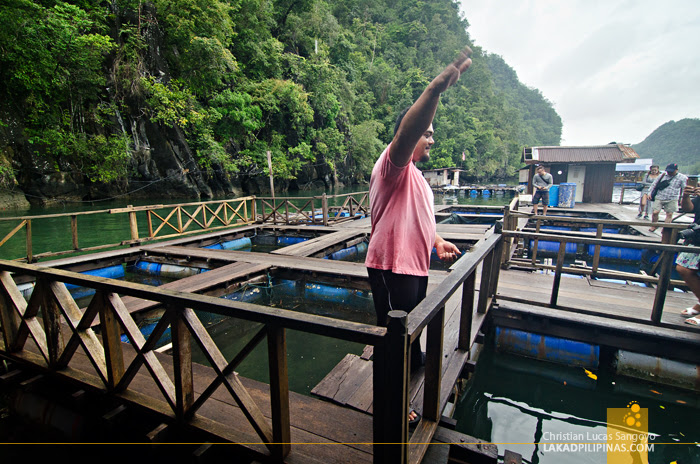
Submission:
[[[372,170],[372,233],[365,265],[379,325],[386,325],[389,311],[410,312],[425,298],[433,247],[442,260],[451,261],[460,254],[436,233],[433,192],[415,163],[430,158],[440,94],[469,68],[470,52],[463,51],[399,116],[394,139]],[[412,344],[410,358],[412,371],[423,365],[419,340]],[[411,411],[409,419],[416,417]]]

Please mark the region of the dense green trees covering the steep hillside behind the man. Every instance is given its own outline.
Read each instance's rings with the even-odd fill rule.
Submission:
[[[0,127],[18,129],[0,142],[93,182],[136,175],[143,118],[182,131],[201,170],[263,175],[271,151],[280,178],[365,181],[396,114],[470,43],[454,0],[2,0],[0,24]],[[473,60],[430,167],[509,177],[561,120],[500,57]]]

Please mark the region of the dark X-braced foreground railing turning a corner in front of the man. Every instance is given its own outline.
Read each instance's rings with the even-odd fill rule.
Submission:
[[[50,269],[33,264],[0,260],[0,323],[3,341],[0,356],[31,364],[59,376],[120,397],[139,402],[183,422],[194,421],[199,408],[224,385],[260,438],[269,455],[281,461],[290,451],[290,412],[287,378],[286,329],[320,334],[374,346],[374,462],[420,462],[437,428],[441,411],[452,385],[443,385],[442,352],[445,304],[461,289],[458,349],[470,347],[477,267],[483,263],[477,312],[485,313],[496,292],[502,239],[490,233],[452,267],[449,275],[409,315],[389,313],[388,328],[347,322],[328,317],[253,305],[205,295],[180,293],[146,285],[116,281]],[[25,301],[13,279],[29,275],[37,284]],[[65,284],[96,290],[82,312]],[[127,311],[121,296],[157,301],[165,315],[146,339]],[[227,361],[204,325],[197,318],[204,311],[260,322],[264,327],[231,361]],[[90,328],[99,318],[100,336]],[[154,352],[157,340],[170,326],[173,333],[172,378]],[[423,419],[408,440],[407,347],[427,328],[427,350]],[[125,333],[137,356],[127,364]],[[32,351],[28,340],[38,347]],[[234,372],[236,366],[267,338],[270,366],[271,423],[263,417]],[[192,379],[192,344],[199,345],[215,371],[216,379],[195,399]],[[82,347],[94,367],[94,374],[71,369],[78,347]],[[130,390],[130,382],[140,367],[147,368],[162,399],[147,399]]]

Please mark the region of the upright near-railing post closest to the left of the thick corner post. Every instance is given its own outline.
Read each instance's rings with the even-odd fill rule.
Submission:
[[[280,462],[291,450],[289,416],[289,375],[287,338],[284,327],[267,326],[267,353],[270,366],[270,406],[272,412],[273,457]]]

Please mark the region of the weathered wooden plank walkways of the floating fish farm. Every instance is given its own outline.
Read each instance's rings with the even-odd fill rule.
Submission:
[[[578,205],[577,205],[578,206]],[[438,208],[442,209],[442,208]],[[607,210],[607,207],[603,208]],[[619,205],[612,205],[610,214],[618,214],[621,220],[629,212],[619,214]],[[618,211],[614,213],[614,211]],[[636,210],[635,210],[636,212]],[[520,220],[522,225],[524,221]],[[243,233],[254,229],[246,226],[233,229]],[[287,226],[274,226],[284,230]],[[476,242],[484,237],[489,226],[438,224],[438,233],[448,240]],[[289,228],[291,229],[291,228]],[[298,227],[294,227],[298,229]],[[646,240],[658,241],[658,233],[641,230]],[[333,261],[309,256],[338,244],[347,244],[369,235],[368,218],[348,221],[334,227],[310,226],[306,230],[318,233],[318,237],[297,245],[292,245],[276,252],[263,254],[231,250],[198,248],[196,242],[215,240],[223,232],[208,233],[196,238],[172,240],[164,244],[140,245],[129,250],[102,252],[95,256],[100,259],[124,260],[137,254],[160,258],[193,259],[216,263],[216,269],[196,276],[180,279],[163,285],[166,290],[185,293],[206,293],[215,288],[226,286],[233,281],[269,270],[288,273],[322,274],[334,279],[353,281],[357,285],[367,285],[367,272],[362,263]],[[232,231],[228,231],[231,234]],[[90,257],[64,258],[44,263],[44,266],[82,266]],[[481,288],[481,269],[474,282],[476,289]],[[431,271],[429,295],[449,272]],[[654,303],[653,288],[636,285],[620,285],[611,282],[596,281],[590,277],[562,277],[559,287],[557,307],[551,307],[550,296],[554,285],[554,276],[521,270],[501,270],[496,294],[497,305],[489,311],[488,319],[499,325],[540,330],[561,336],[588,338],[594,343],[617,341],[624,346],[639,350],[646,349],[656,353],[665,353],[671,358],[695,360],[700,349],[700,331],[683,324],[680,311],[693,304],[695,299],[690,293],[669,292],[660,324],[652,324],[650,314]],[[445,304],[444,339],[442,341],[442,389],[439,407],[442,411],[450,399],[455,382],[462,373],[469,352],[458,349],[459,317],[463,306],[461,292],[455,293]],[[482,324],[487,317],[477,312],[477,299],[472,302],[473,321],[468,344],[472,346],[477,340]],[[130,313],[147,311],[158,303],[135,297],[125,296],[123,303]],[[94,324],[93,324],[94,325]],[[376,328],[373,328],[376,329]],[[590,334],[586,335],[586,331]],[[422,344],[425,346],[425,330]],[[582,335],[584,334],[584,335]],[[644,344],[647,341],[647,347]],[[0,342],[2,343],[2,342]],[[370,342],[364,342],[370,343]],[[2,346],[4,350],[4,345]],[[88,357],[79,348],[79,356],[71,360],[68,369],[60,371],[71,381],[93,385],[99,390],[102,384],[94,374],[94,367]],[[129,347],[126,346],[126,352]],[[130,352],[133,358],[133,351]],[[336,463],[336,462],[372,462],[372,427],[373,404],[373,351],[368,346],[362,355],[348,354],[328,375],[312,390],[314,397],[290,392],[291,441],[295,443],[285,459],[289,463]],[[157,354],[158,360],[169,375],[173,375],[172,357]],[[43,358],[42,358],[43,359]],[[130,362],[130,360],[128,360]],[[39,362],[41,364],[41,362]],[[208,366],[193,365],[195,394],[201,394],[207,385],[216,378],[214,370]],[[162,404],[157,412],[172,419],[171,408],[162,400],[162,394],[153,378],[144,372],[136,375],[132,385],[123,396],[125,401],[152,407]],[[236,377],[238,377],[236,375]],[[251,394],[254,402],[269,421],[271,418],[270,387],[249,379],[240,378]],[[424,369],[419,369],[411,376],[409,398],[413,407],[421,411],[425,387]],[[428,395],[429,396],[429,395]],[[161,398],[158,400],[158,398]],[[321,398],[321,399],[319,399]],[[213,397],[200,409],[198,419],[190,425],[207,432],[214,442],[235,442],[245,444],[253,450],[258,458],[264,459],[268,449],[258,444],[259,436],[245,418],[228,392],[219,387]],[[440,430],[440,429],[438,429]],[[449,433],[438,433],[436,441],[444,442]],[[442,437],[441,439],[439,437]],[[307,446],[308,445],[308,446]],[[311,446],[313,445],[313,446]],[[428,453],[427,456],[431,456]],[[444,461],[440,461],[444,462]]]

